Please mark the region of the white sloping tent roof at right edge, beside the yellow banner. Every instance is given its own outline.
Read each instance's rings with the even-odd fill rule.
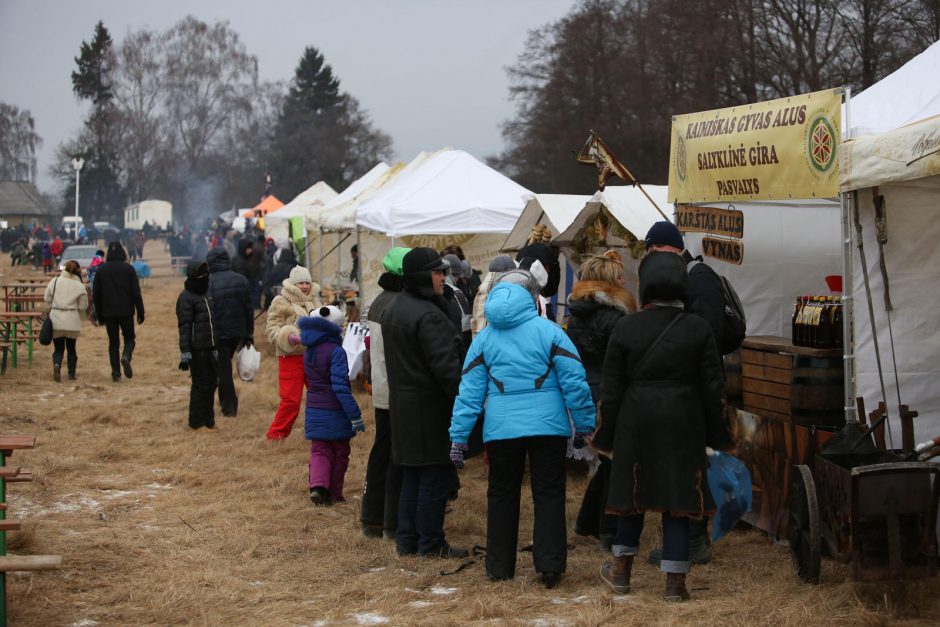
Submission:
[[[940,41],[849,101],[846,136],[885,133],[940,115],[938,76]]]

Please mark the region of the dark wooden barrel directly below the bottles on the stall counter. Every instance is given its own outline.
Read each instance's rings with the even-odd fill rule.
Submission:
[[[793,356],[790,415],[807,427],[841,427],[845,388],[841,357]]]

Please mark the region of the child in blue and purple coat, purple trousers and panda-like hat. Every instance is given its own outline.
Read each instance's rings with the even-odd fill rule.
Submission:
[[[345,501],[343,484],[349,467],[349,440],[366,430],[349,387],[349,363],[343,350],[341,326],[345,316],[338,307],[320,307],[297,320],[303,344],[307,380],[305,432],[310,442],[310,500],[314,505]]]

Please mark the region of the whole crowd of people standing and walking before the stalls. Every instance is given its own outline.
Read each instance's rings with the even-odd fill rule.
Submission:
[[[303,409],[310,499],[342,502],[350,440],[366,429],[342,348],[347,316],[323,302],[289,247],[262,271],[266,254],[253,249],[264,240],[233,240],[193,256],[176,303],[189,427],[215,428],[216,394],[224,416],[238,414],[232,359],[253,343],[264,294],[280,398],[266,437],[289,437]],[[724,301],[717,275],[697,271],[704,264],[673,224],[656,223],[645,244],[635,285],[615,251],[583,260],[564,328],[549,301],[558,290],[557,251],[537,229],[515,258],[493,259],[482,280],[457,246],[388,251],[366,318],[375,435],[360,514],[365,536],[394,540],[399,555],[466,557],[445,535],[445,514],[465,460],[485,453],[486,574],[512,579],[528,462],[533,561],[553,588],[566,570],[565,458],[590,447],[599,463],[575,532],[609,551],[601,579],[629,592],[644,516],[654,512],[663,545],[650,558],[666,574],[664,596],[689,598],[686,573],[709,559],[715,510],[706,447],[734,446],[724,418]],[[75,378],[89,302],[108,330],[113,380],[133,376],[135,315],[143,324],[144,305],[127,258],[112,242],[90,290],[74,262],[50,281],[56,381],[66,353]]]

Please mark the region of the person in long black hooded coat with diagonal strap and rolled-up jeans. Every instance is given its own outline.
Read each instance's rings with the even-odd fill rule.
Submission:
[[[613,453],[607,509],[620,515],[614,560],[601,577],[614,591],[629,591],[644,512],[661,512],[665,596],[685,600],[689,519],[715,510],[705,447],[733,446],[722,415],[721,357],[708,323],[683,313],[689,277],[679,255],[648,253],[639,277],[643,309],[620,320],[610,338],[593,441]]]

